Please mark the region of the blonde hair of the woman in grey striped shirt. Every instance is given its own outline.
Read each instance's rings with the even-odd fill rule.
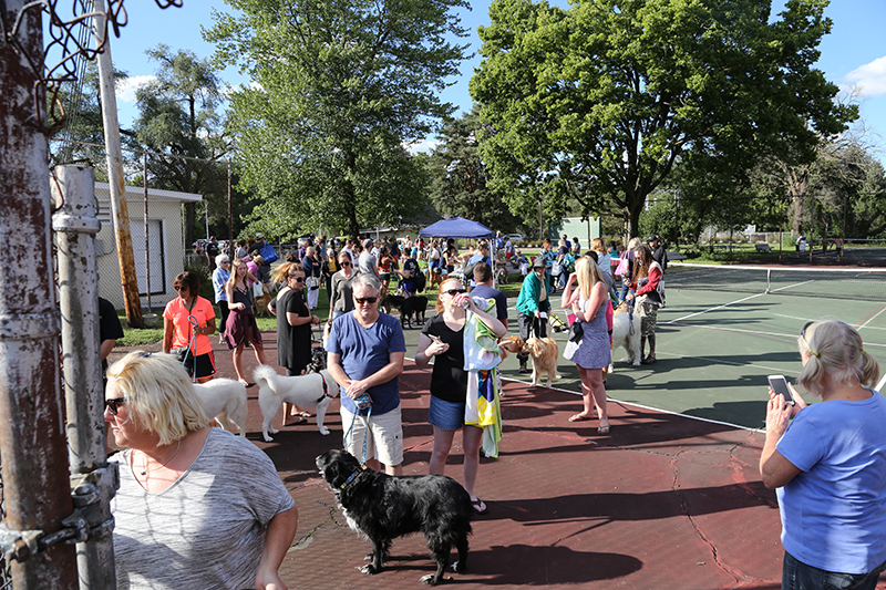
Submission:
[[[126,398],[131,420],[159,436],[161,446],[209,423],[190,377],[172,354],[131,352],[111,365],[107,380]]]

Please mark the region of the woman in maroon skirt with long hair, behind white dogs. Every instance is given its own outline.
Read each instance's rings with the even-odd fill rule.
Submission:
[[[235,260],[230,271],[230,278],[225,284],[225,292],[228,296],[228,321],[225,324],[223,334],[229,350],[234,351],[234,371],[237,372],[237,381],[251,387],[255,383],[246,380],[243,373],[243,349],[249,342],[256,351],[256,360],[259,364],[268,364],[265,360],[265,345],[261,343],[261,332],[258,331],[256,315],[253,312],[253,291],[246,283],[249,269],[243,260]],[[251,277],[249,277],[251,278]]]

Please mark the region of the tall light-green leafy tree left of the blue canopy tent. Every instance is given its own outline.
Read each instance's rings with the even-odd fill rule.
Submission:
[[[251,79],[231,97],[241,184],[256,226],[399,224],[426,205],[427,175],[403,148],[453,106],[439,92],[465,46],[463,0],[227,0],[205,38]]]

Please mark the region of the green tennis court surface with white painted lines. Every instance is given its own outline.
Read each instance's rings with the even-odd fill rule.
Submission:
[[[619,362],[624,350],[615,351],[607,384],[612,400],[762,428],[766,375],[797,376],[800,330],[823,318],[856,327],[866,350],[886,369],[884,271],[672,265],[664,278],[659,362],[630,366]],[[513,308],[509,315],[514,322]],[[562,351],[566,334],[553,335]],[[507,359],[503,376],[526,381],[516,370],[516,360]],[[564,379],[555,385],[578,393],[574,365],[560,359],[559,370]]]

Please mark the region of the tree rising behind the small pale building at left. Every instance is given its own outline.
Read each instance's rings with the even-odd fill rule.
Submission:
[[[226,135],[222,83],[207,59],[159,44],[146,51],[156,61],[156,77],[136,92],[138,116],[133,132],[148,152],[148,184],[197,193],[208,208],[210,232],[227,236],[227,163],[233,149]],[[185,244],[192,244],[196,204],[185,206]],[[203,235],[203,231],[197,231]]]

